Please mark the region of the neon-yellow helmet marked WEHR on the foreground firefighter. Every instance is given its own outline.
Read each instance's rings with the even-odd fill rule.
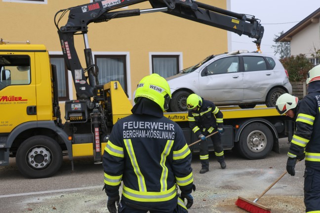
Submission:
[[[161,109],[167,110],[171,99],[171,92],[168,82],[157,73],[142,78],[137,86],[134,103],[139,97],[144,97],[156,102]]]

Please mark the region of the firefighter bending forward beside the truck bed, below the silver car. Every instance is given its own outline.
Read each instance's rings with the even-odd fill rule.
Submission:
[[[200,173],[209,171],[209,151],[206,136],[218,130],[218,134],[210,138],[213,142],[214,154],[222,169],[225,169],[224,152],[221,143],[223,133],[223,114],[212,102],[202,99],[197,94],[191,94],[187,98],[189,125],[192,131],[201,139],[200,142]]]

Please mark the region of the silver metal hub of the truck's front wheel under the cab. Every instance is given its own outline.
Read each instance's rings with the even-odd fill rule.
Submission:
[[[41,169],[50,163],[50,157],[51,154],[45,147],[35,147],[28,154],[28,162],[32,167]]]

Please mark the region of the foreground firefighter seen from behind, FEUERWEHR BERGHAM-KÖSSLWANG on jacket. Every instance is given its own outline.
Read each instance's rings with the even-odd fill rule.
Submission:
[[[133,114],[113,127],[103,154],[110,213],[117,213],[116,204],[119,213],[187,213],[193,204],[191,151],[182,129],[163,116],[170,98],[163,77],[155,73],[144,77],[136,90]]]

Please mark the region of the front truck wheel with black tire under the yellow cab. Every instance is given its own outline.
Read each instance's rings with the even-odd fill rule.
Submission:
[[[47,178],[54,175],[62,165],[59,144],[47,136],[33,136],[19,146],[16,165],[27,178]]]

